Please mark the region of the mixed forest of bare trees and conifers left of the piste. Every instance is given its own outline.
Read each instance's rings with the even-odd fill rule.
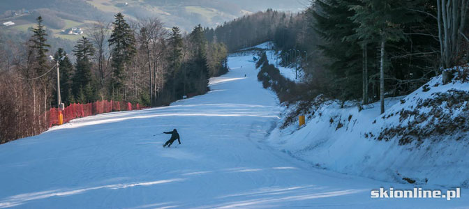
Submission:
[[[209,77],[228,72],[228,50],[207,41],[200,25],[183,35],[178,27],[167,31],[158,18],[129,22],[117,13],[66,52],[50,44],[43,18],[36,20],[23,44],[0,33],[1,143],[47,129],[47,112],[59,103],[57,67],[65,106],[99,100],[168,105],[206,93]]]

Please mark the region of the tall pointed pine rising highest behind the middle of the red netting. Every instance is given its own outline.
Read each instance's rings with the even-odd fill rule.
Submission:
[[[135,56],[135,36],[131,27],[124,20],[124,15],[117,13],[109,45],[112,47],[111,65],[112,65],[112,95],[115,99],[121,99],[121,90],[124,88],[126,79],[126,68]]]

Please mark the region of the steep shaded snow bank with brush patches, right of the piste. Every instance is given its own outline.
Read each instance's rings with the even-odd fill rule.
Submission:
[[[343,109],[325,102],[306,116],[306,126],[276,128],[269,142],[314,167],[391,182],[468,187],[469,84],[441,81],[435,77],[410,95],[388,98],[382,115],[379,102],[362,111],[351,102]]]

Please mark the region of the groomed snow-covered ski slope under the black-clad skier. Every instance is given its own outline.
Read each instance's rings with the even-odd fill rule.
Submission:
[[[0,145],[0,208],[469,206],[466,189],[452,201],[371,199],[371,189],[412,186],[315,169],[270,148],[280,108],[252,57],[230,57],[231,71],[211,79],[206,95],[80,118]],[[173,128],[182,144],[163,148],[170,135],[153,135]]]

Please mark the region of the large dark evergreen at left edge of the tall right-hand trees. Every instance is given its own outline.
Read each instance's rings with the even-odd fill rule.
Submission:
[[[315,32],[322,38],[318,44],[322,55],[329,58],[325,68],[334,76],[333,95],[341,100],[359,98],[362,81],[362,49],[357,42],[345,42],[355,34],[357,23],[350,20],[355,14],[349,5],[357,0],[318,0],[317,9],[308,10]]]

